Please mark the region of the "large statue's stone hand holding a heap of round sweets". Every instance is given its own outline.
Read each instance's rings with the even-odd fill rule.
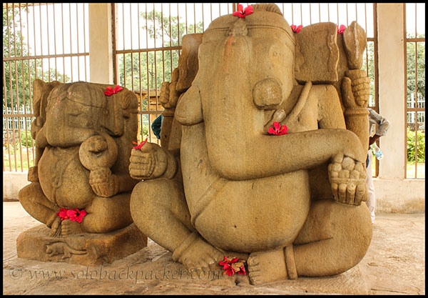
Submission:
[[[361,162],[336,154],[328,166],[328,177],[336,202],[360,206],[367,201],[366,171]]]

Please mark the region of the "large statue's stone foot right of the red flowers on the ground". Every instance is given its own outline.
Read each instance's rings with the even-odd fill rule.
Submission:
[[[250,283],[254,285],[287,279],[284,249],[250,254],[248,277],[250,277]]]

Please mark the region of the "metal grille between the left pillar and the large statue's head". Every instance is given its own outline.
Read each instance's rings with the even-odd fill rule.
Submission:
[[[233,4],[116,4],[113,6],[116,68],[114,83],[133,90],[140,101],[139,137],[159,143],[151,124],[162,111],[161,84],[178,66],[181,39],[203,33],[218,16],[231,14]]]

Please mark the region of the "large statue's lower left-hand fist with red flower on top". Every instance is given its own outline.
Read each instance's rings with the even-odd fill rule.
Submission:
[[[165,152],[154,143],[146,143],[141,149],[133,149],[129,160],[129,174],[138,180],[161,177],[168,164]]]

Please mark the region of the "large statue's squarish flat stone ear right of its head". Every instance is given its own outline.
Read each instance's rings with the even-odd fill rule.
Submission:
[[[295,34],[295,79],[300,83],[333,84],[339,79],[337,64],[337,27],[318,23],[303,27]]]

